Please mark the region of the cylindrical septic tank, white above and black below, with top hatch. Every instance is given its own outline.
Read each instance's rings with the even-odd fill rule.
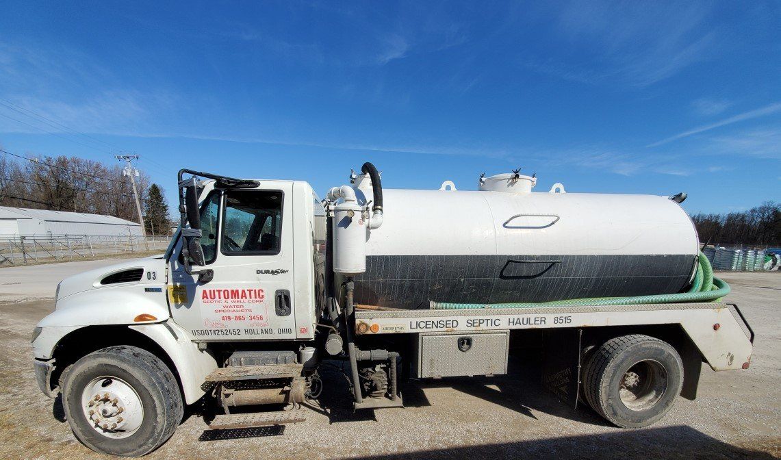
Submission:
[[[383,223],[367,231],[357,303],[428,308],[681,291],[699,244],[668,197],[532,192],[535,177],[480,179],[480,191],[383,189]],[[372,199],[355,181],[358,204]],[[448,186],[446,186],[448,184]]]

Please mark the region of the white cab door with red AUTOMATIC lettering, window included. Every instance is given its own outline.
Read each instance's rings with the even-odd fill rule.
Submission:
[[[197,341],[295,338],[292,183],[213,190],[201,205],[201,246],[214,278],[199,283],[170,260],[173,319]]]

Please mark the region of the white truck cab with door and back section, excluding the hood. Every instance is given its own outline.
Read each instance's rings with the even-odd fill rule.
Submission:
[[[166,252],[173,321],[196,341],[311,341],[323,308],[323,205],[309,184],[201,191],[203,283],[184,265],[180,234]],[[181,232],[180,232],[181,233]]]

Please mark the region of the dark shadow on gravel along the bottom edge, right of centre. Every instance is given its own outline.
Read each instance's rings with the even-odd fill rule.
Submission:
[[[778,446],[773,446],[777,448]],[[369,455],[364,459],[470,458],[496,460],[497,458],[685,458],[686,460],[713,460],[714,458],[776,458],[762,451],[754,451],[726,444],[694,430],[690,426],[668,426],[644,430],[621,430],[615,433],[552,437],[499,444],[483,444],[456,448],[433,448],[426,451],[391,455]]]

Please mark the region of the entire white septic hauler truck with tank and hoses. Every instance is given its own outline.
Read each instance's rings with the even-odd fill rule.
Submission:
[[[199,401],[213,430],[301,422],[334,390],[326,361],[355,410],[399,408],[405,380],[507,373],[510,345],[533,343],[547,387],[624,427],[694,398],[702,362],[749,366],[685,194],[537,193],[519,170],[383,191],[371,163],[349,182],[320,200],[183,169],[164,255],[62,280],[34,367],[79,440],[144,455]]]

